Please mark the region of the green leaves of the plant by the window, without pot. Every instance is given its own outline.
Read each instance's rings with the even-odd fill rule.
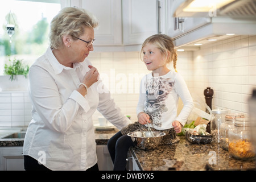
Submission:
[[[22,60],[15,59],[12,61],[9,57],[10,65],[5,64],[5,75],[10,75],[10,80],[15,80],[15,75],[24,75],[27,77],[29,67],[28,65],[24,65]]]

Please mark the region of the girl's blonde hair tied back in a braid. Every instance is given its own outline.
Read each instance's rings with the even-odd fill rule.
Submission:
[[[174,69],[176,70],[176,62],[177,62],[177,52],[174,49],[174,43],[172,39],[168,35],[164,34],[155,34],[147,38],[142,44],[141,52],[143,47],[148,43],[151,43],[155,47],[159,48],[160,52],[166,56],[166,64],[170,64],[173,61]]]

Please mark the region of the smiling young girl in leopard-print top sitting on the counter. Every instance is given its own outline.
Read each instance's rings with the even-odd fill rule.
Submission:
[[[129,147],[134,146],[127,133],[147,131],[147,122],[152,131],[166,133],[161,144],[179,141],[181,132],[193,107],[193,100],[183,78],[176,71],[177,53],[172,39],[163,34],[152,35],[142,44],[143,62],[152,73],[141,80],[137,105],[138,122],[131,123],[109,139],[108,149],[114,170],[125,170]],[[173,61],[175,72],[167,65]],[[177,115],[179,97],[183,109]]]

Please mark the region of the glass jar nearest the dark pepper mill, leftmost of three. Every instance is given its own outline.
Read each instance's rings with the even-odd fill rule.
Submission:
[[[220,126],[224,122],[227,109],[213,109],[214,119],[210,122],[210,134],[213,136],[214,143],[220,143]]]

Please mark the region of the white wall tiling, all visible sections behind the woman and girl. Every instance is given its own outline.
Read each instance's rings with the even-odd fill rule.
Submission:
[[[139,82],[149,73],[140,52],[91,52],[88,59],[123,114],[135,120]],[[199,51],[178,52],[177,71],[194,98],[204,102],[204,89],[210,86],[213,109],[248,113],[247,99],[256,88],[256,36],[234,36],[203,45]],[[94,114],[94,122],[100,115]],[[27,92],[0,92],[0,126],[26,126],[30,119]]]

